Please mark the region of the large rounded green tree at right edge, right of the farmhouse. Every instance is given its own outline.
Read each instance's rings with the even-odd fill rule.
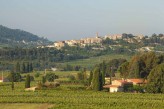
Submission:
[[[164,63],[157,65],[148,76],[146,91],[150,93],[164,93]]]

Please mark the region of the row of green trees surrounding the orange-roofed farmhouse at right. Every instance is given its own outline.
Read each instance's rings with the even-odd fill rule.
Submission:
[[[145,86],[147,92],[164,93],[164,54],[158,55],[154,52],[138,54],[130,61],[123,60],[119,64],[112,62],[112,67],[109,63],[103,62],[90,72],[89,85],[93,90],[103,90],[108,72],[110,72],[110,77],[115,77],[114,74],[119,72],[124,79],[143,78],[147,80]]]

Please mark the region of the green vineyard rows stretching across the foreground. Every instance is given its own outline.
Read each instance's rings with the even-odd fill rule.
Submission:
[[[24,91],[24,82],[19,82],[13,91],[9,83],[0,84],[0,103],[0,108],[6,103],[49,103],[51,109],[164,109],[164,95],[94,92],[80,85],[32,92]]]

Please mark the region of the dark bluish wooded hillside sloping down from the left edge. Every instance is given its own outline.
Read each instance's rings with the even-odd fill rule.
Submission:
[[[30,47],[38,45],[50,44],[45,38],[38,37],[32,33],[19,30],[10,29],[0,25],[0,46],[1,47]]]

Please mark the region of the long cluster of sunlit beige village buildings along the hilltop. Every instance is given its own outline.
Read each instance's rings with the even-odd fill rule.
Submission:
[[[137,35],[134,37],[134,39],[140,41],[144,36],[143,35]],[[129,43],[133,43],[133,40],[131,38],[124,38],[123,34],[114,34],[114,35],[105,35],[104,37],[100,37],[98,34],[96,34],[96,37],[91,38],[83,38],[80,40],[65,40],[65,41],[57,41],[54,42],[53,45],[49,45],[47,47],[55,47],[55,48],[62,48],[66,45],[68,46],[81,46],[84,47],[86,45],[94,45],[94,44],[101,44],[103,40],[105,39],[111,39],[111,40],[117,40],[117,39],[123,39]]]

